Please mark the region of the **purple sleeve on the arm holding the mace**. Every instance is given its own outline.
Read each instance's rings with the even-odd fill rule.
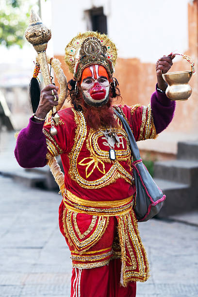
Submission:
[[[30,118],[27,128],[20,131],[15,148],[18,164],[24,168],[43,167],[46,165],[47,145],[42,132],[44,122],[35,123]]]

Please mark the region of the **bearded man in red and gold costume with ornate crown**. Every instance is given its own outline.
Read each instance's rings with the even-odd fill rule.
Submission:
[[[162,72],[174,55],[156,63],[157,86],[148,106],[114,105],[115,44],[96,32],[80,33],[66,46],[71,108],[59,112],[50,134],[50,109],[58,87],[47,85],[35,114],[17,138],[22,167],[45,166],[61,155],[65,189],[59,225],[71,251],[71,296],[134,297],[136,281],[148,279],[148,261],[133,210],[135,185],[129,140],[113,107],[128,121],[136,141],[155,138],[172,120],[175,102],[165,95]],[[52,92],[53,91],[53,92]],[[55,99],[55,100],[54,100]]]

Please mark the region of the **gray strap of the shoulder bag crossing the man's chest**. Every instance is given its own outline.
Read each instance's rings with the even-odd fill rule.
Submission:
[[[133,136],[133,133],[132,133],[131,128],[129,127],[129,124],[127,123],[127,121],[125,120],[125,118],[122,115],[120,115],[120,113],[118,113],[115,110],[115,108],[114,108],[114,112],[119,117],[119,119],[122,122],[122,125],[124,127],[124,130],[125,130],[125,132],[128,135],[129,142],[130,142],[130,148],[131,148],[131,151],[132,151],[133,160],[134,161],[140,160],[141,159],[140,158],[140,151],[139,151],[139,148],[137,147],[135,138]]]

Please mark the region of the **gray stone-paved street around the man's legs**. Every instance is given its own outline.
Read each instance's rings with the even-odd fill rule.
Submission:
[[[6,164],[14,166],[5,139],[2,171]],[[14,141],[8,144],[12,148]],[[54,192],[0,175],[0,297],[70,297],[71,261],[58,227],[60,201]],[[180,219],[139,224],[150,278],[137,284],[137,297],[198,296],[198,213]]]

